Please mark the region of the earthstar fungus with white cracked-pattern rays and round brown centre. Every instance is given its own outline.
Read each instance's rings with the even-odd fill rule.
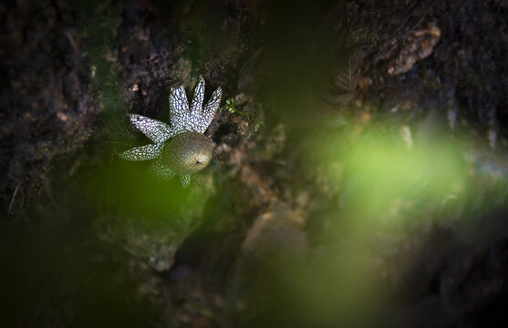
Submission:
[[[221,87],[217,87],[203,107],[204,79],[199,77],[192,106],[189,108],[185,88],[171,87],[171,124],[130,114],[132,125],[150,138],[153,144],[124,151],[119,154],[119,158],[153,159],[150,169],[157,178],[167,181],[176,174],[180,176],[181,186],[186,188],[191,181],[191,174],[204,169],[212,159],[213,142],[204,135],[204,131],[212,123],[222,94]]]

